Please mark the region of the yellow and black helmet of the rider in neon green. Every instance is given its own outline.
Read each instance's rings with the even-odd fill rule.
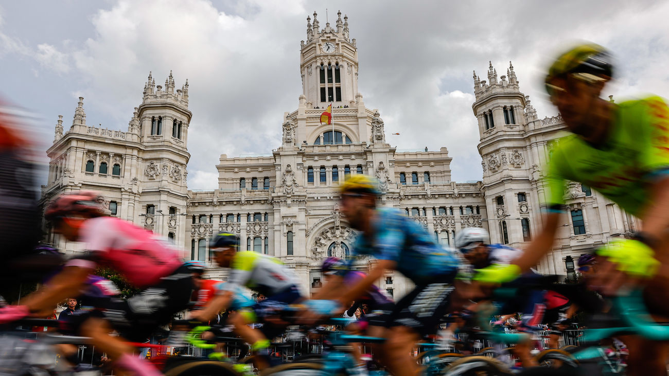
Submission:
[[[611,79],[613,65],[611,55],[601,45],[585,43],[577,45],[561,54],[551,65],[546,75],[546,91],[553,95],[556,90],[564,90],[553,84],[553,78],[573,74],[586,82],[601,82]]]

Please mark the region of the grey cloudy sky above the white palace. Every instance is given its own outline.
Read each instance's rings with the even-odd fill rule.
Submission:
[[[396,5],[397,4],[397,5]],[[407,5],[410,4],[410,5]],[[660,1],[5,1],[0,4],[0,96],[34,114],[39,141],[72,124],[84,96],[86,122],[126,130],[149,74],[189,79],[189,188],[213,189],[221,153],[269,153],[284,112],[302,93],[306,16],[349,16],[359,90],[379,108],[399,149],[448,147],[453,179],[481,178],[472,114],[472,70],[484,78],[512,60],[539,116],[555,109],[542,72],[576,39],[617,58],[616,98],[669,96],[669,2]]]

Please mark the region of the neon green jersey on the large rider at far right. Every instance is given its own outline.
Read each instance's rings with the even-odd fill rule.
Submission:
[[[575,134],[559,139],[547,169],[548,204],[565,203],[565,181],[571,180],[639,215],[658,175],[669,175],[669,108],[658,96],[621,102],[601,149]]]

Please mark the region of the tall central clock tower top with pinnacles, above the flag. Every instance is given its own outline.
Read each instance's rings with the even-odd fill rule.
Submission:
[[[306,17],[306,42],[301,41],[300,74],[306,107],[353,106],[358,92],[358,52],[349,39],[349,17],[337,12],[336,27]]]

